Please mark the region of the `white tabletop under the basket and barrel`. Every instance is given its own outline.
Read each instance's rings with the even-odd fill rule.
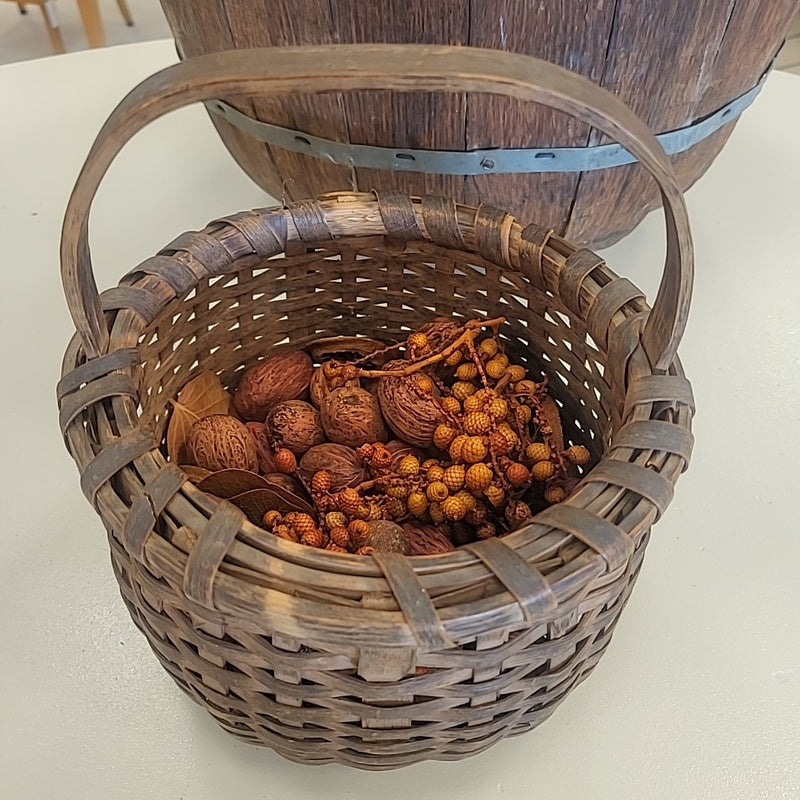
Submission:
[[[112,107],[174,60],[165,41],[0,68],[0,796],[800,797],[800,77],[769,78],[688,192],[697,444],[608,652],[531,733],[363,773],[239,743],[178,690],[127,615],[60,441],[64,205]],[[201,109],[160,120],[98,196],[98,283],[264,204]],[[651,214],[606,254],[650,297],[662,240]]]

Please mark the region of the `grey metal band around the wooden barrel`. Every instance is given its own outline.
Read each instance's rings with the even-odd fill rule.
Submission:
[[[745,94],[685,128],[657,135],[672,155],[688,150],[723,125],[738,117],[755,100],[769,74]],[[485,175],[525,172],[588,172],[631,164],[636,159],[619,144],[595,147],[509,148],[491,150],[415,150],[349,144],[322,139],[303,131],[282,128],[248,117],[221,100],[210,100],[206,108],[259,141],[284,150],[305,153],[334,164],[401,172],[438,175]]]

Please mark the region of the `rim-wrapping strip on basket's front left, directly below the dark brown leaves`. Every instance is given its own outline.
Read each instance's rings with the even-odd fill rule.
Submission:
[[[203,608],[214,608],[214,579],[219,565],[245,522],[244,514],[230,503],[220,503],[186,559],[183,592]]]

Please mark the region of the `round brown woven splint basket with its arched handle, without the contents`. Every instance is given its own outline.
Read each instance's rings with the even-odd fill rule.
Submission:
[[[212,222],[99,296],[88,214],[124,143],[190,102],[308,85],[491,91],[615,136],[664,198],[653,310],[597,255],[496,208],[352,192]],[[304,763],[459,759],[546,719],[592,670],[692,446],[675,357],[692,274],[686,209],[654,138],[613,96],[545,62],[467,48],[190,59],[106,122],[61,255],[77,334],[58,400],[81,488],[134,622],[225,729]],[[437,315],[483,314],[507,318],[507,350],[545,370],[565,439],[598,462],[566,502],[502,539],[413,558],[265,540],[163,455],[168,400],[200,370],[233,386],[287,340],[394,339]]]

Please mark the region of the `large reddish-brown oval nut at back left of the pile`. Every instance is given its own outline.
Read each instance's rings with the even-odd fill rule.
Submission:
[[[263,422],[273,406],[302,398],[313,372],[311,357],[304,350],[274,353],[245,370],[233,404],[243,419]]]

